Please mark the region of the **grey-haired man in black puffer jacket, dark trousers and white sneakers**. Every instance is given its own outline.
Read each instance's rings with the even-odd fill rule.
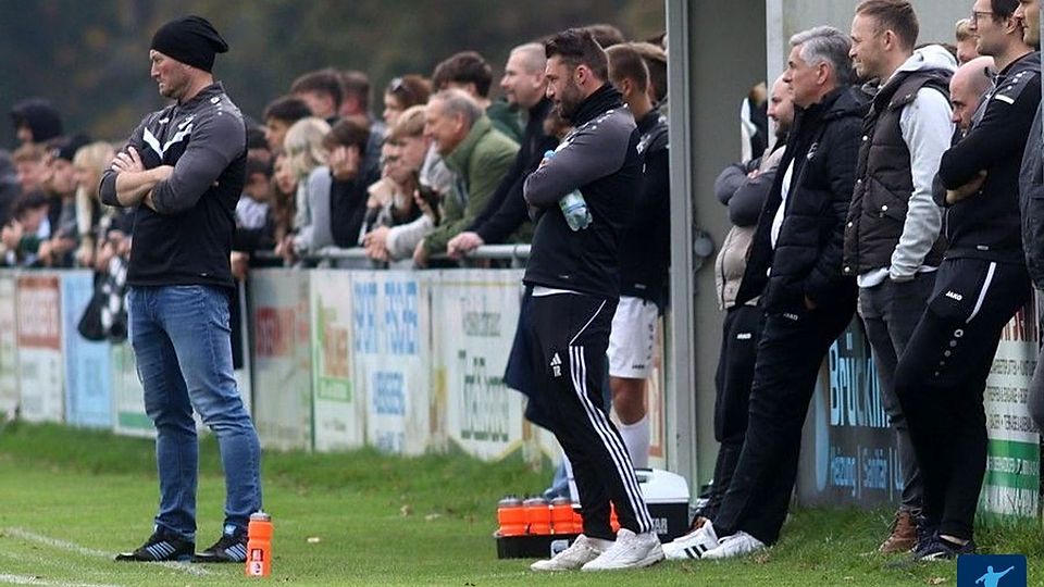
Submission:
[[[736,294],[737,304],[761,296],[766,313],[747,432],[717,515],[685,537],[693,559],[748,554],[779,538],[816,378],[856,307],[841,259],[866,97],[849,86],[845,34],[816,27],[791,46],[783,80],[794,126]]]

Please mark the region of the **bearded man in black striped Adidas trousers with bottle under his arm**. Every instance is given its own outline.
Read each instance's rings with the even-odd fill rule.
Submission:
[[[547,97],[575,129],[526,179],[536,232],[523,280],[532,288],[532,365],[543,404],[572,462],[584,532],[534,571],[608,571],[663,559],[631,459],[601,400],[609,329],[619,298],[617,242],[641,188],[638,133],[608,60],[589,32],[545,43]],[[560,200],[586,200],[589,223],[570,226]],[[620,530],[609,525],[616,507]]]

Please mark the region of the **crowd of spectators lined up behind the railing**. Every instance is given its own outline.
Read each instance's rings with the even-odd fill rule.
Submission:
[[[606,47],[638,51],[655,77],[650,98],[664,100],[661,45],[629,43],[609,25],[591,29]],[[545,62],[542,43],[515,47],[497,92],[486,58],[461,51],[430,76],[393,78],[376,104],[362,72],[300,75],[248,117],[233,265],[272,262],[272,253],[308,263],[326,247],[362,247],[375,262],[423,267],[482,243],[527,242],[521,180],[567,130],[549,117]],[[133,223],[97,196],[120,145],[67,133],[44,98],[18,102],[10,116],[20,145],[0,150],[3,263],[104,271],[113,254],[126,255]]]

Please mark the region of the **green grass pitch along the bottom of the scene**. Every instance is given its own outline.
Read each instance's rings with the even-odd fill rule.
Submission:
[[[0,430],[0,585],[956,585],[954,563],[898,564],[874,552],[890,512],[798,510],[783,540],[725,563],[662,563],[645,571],[554,576],[530,561],[497,560],[492,533],[506,492],[550,478],[520,462],[463,455],[406,459],[374,451],[265,452],[264,502],[275,523],[273,574],[241,565],[116,563],[151,532],[152,442],[51,425]],[[203,441],[199,549],[216,539],[224,488],[212,438]],[[982,528],[990,552],[1029,557],[1044,579],[1039,528]]]

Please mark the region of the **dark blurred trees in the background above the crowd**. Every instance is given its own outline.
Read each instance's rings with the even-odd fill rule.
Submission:
[[[310,70],[363,71],[380,100],[394,76],[430,75],[463,49],[499,68],[512,47],[569,26],[610,23],[635,39],[664,28],[663,3],[648,0],[0,2],[0,112],[44,96],[61,110],[66,128],[123,138],[138,113],[162,104],[154,85],[141,80],[150,32],[186,13],[207,16],[228,40],[232,52],[214,73],[254,117]],[[0,147],[13,143],[4,121]]]

